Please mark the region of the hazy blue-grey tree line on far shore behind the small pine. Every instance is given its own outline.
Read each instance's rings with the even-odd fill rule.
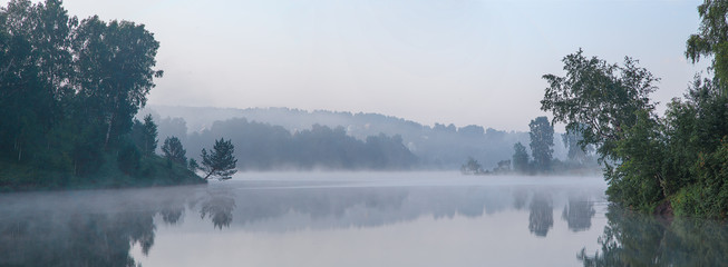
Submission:
[[[365,140],[347,135],[343,127],[313,125],[291,132],[244,118],[215,121],[210,129],[185,139],[192,150],[202,149],[219,137],[229,137],[236,148],[241,170],[274,169],[410,169],[418,159],[399,136],[384,134]]]

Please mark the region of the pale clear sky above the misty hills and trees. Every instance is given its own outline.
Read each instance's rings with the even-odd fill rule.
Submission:
[[[145,23],[165,77],[151,103],[380,112],[525,130],[544,73],[580,47],[631,56],[681,96],[700,1],[67,0],[71,14]]]

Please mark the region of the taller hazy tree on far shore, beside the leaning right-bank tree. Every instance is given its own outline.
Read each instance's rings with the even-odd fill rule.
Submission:
[[[554,128],[549,122],[549,118],[538,117],[528,123],[531,131],[531,155],[533,156],[534,168],[537,171],[551,170],[553,160]]]

